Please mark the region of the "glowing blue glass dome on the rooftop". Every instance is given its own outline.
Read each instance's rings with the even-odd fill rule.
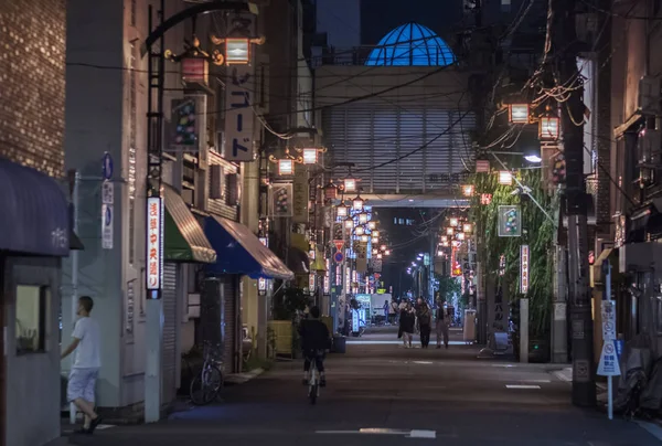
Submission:
[[[446,66],[456,61],[452,50],[433,30],[418,23],[406,23],[380,41],[365,65]]]

